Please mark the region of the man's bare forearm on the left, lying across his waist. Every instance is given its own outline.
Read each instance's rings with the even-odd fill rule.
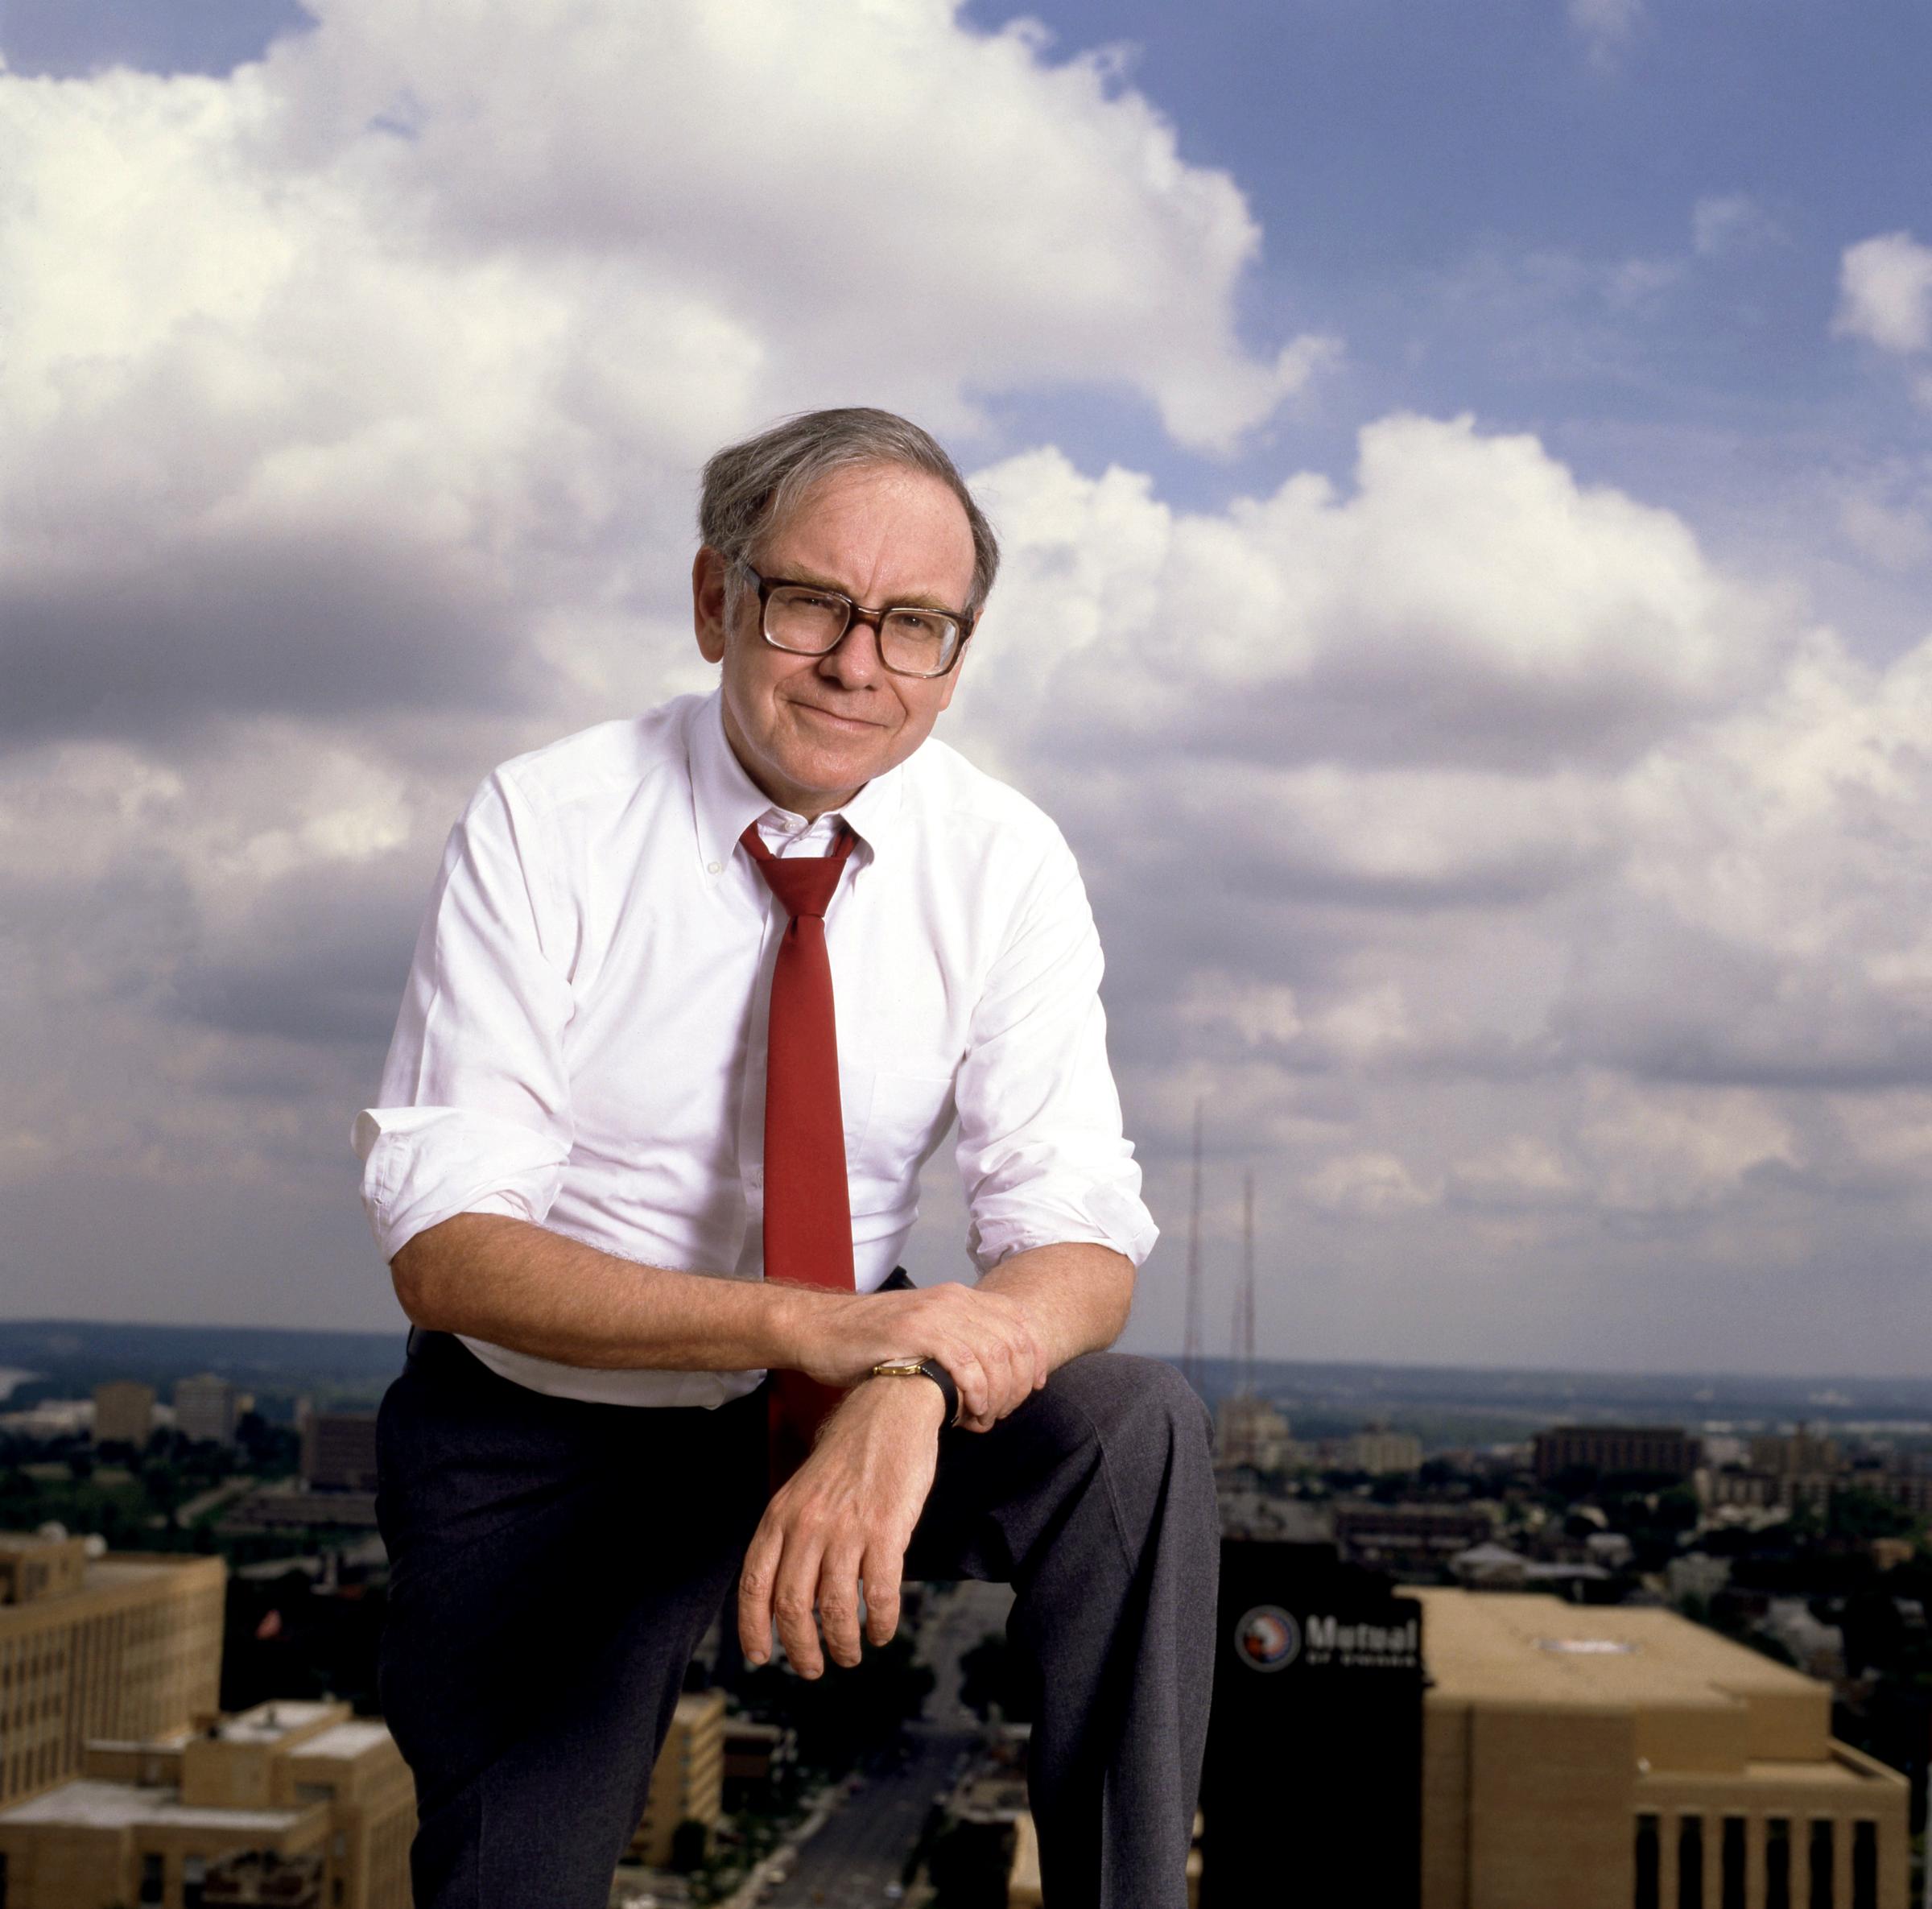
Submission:
[[[425,1329],[599,1370],[790,1366],[821,1295],[638,1266],[498,1213],[456,1213],[390,1262]]]

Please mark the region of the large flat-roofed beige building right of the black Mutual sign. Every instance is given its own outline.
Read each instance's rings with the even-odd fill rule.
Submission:
[[[1422,1909],[1907,1909],[1905,1778],[1830,1687],[1663,1610],[1408,1596]]]

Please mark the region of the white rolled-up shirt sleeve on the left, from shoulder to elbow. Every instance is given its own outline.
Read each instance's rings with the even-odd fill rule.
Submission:
[[[381,1105],[355,1117],[384,1260],[454,1213],[543,1221],[570,1159],[566,920],[543,819],[506,771],[442,852]]]

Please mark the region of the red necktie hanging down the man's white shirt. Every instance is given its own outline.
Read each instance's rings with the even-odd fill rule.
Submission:
[[[829,856],[788,860],[765,846],[755,821],[738,841],[790,916],[771,970],[765,1041],[765,1277],[850,1293],[852,1200],[825,910],[854,837],[840,827]],[[813,1436],[842,1397],[837,1385],[819,1385],[804,1372],[773,1372],[773,1490],[806,1461]]]

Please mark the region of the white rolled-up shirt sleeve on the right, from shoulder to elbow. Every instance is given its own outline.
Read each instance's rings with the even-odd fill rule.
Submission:
[[[954,1082],[968,1250],[981,1271],[1034,1246],[1111,1246],[1136,1266],[1153,1248],[1107,1065],[1099,978],[1094,914],[1055,831]]]

